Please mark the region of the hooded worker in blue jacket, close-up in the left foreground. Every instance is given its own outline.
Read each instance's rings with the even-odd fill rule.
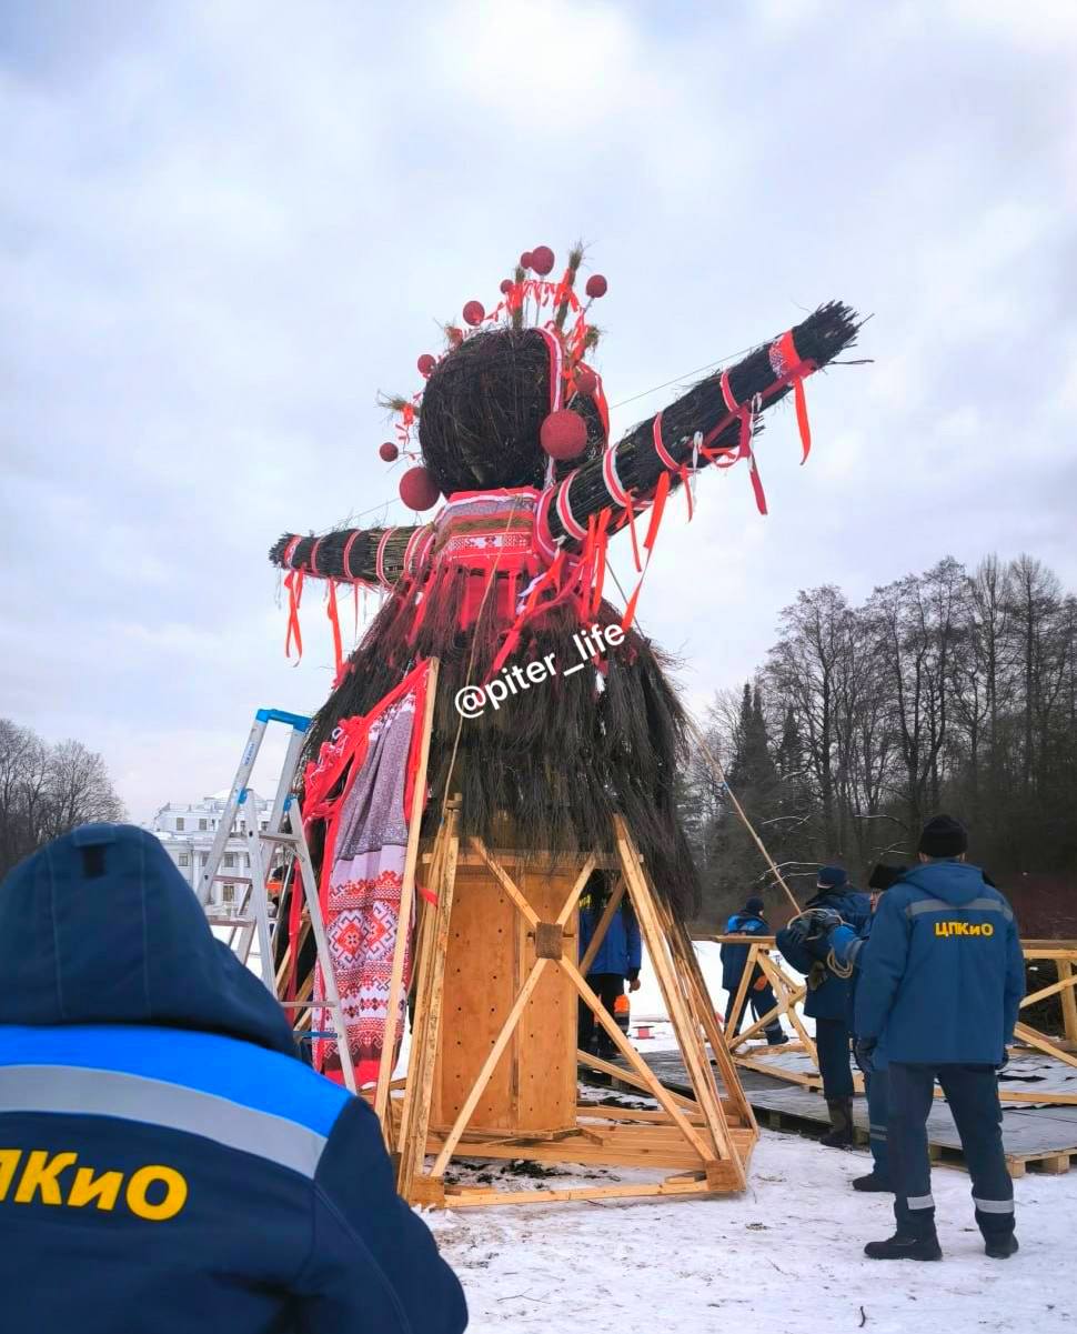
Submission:
[[[0,884],[0,1291],[35,1334],[460,1334],[365,1102],[151,834],[87,824]]]

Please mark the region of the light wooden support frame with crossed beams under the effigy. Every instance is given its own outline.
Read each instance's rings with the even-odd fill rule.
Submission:
[[[616,860],[610,859],[608,852],[598,850],[581,858],[572,888],[556,919],[550,922],[544,920],[552,915],[549,910],[537,911],[521,888],[524,882],[517,883],[515,875],[505,868],[505,860],[512,858],[513,862],[520,862],[523,855],[503,851],[495,854],[479,838],[467,839],[467,851],[461,850],[459,818],[459,806],[453,806],[447,812],[435,846],[428,854],[431,883],[436,887],[437,903],[436,907],[429,904],[424,907],[419,932],[416,1011],[408,1078],[400,1097],[393,1097],[393,1090],[387,1083],[387,1097],[380,1110],[387,1141],[397,1154],[400,1193],[412,1203],[467,1207],[633,1195],[702,1195],[744,1190],[758,1127],[740,1087],[736,1066],[721,1042],[713,1003],[706,994],[702,971],[698,968],[688,934],[684,927],[674,924],[668,908],[656,896],[624,822],[617,819],[612,830]],[[541,862],[542,856],[544,854],[537,852],[531,860]],[[465,864],[481,866],[489,871],[515,908],[517,920],[523,922],[521,930],[525,931],[531,952],[527,956],[528,967],[523,984],[519,986],[500,1023],[481,1069],[459,1105],[452,1125],[439,1126],[432,1123],[433,1075],[441,1027],[441,994],[453,890],[463,858],[467,858]],[[610,894],[610,903],[598,922],[590,948],[577,963],[574,948],[569,956],[566,948],[557,948],[558,939],[562,939],[565,946],[574,940],[569,927],[580,896],[596,866],[613,868],[612,860],[620,871],[618,883]],[[661,1085],[586,980],[586,967],[594,958],[594,951],[618,903],[625,896],[636,911],[648,955],[670,1014],[674,1035],[689,1071],[692,1098],[676,1094]],[[484,1090],[509,1043],[519,1034],[521,1017],[536,987],[552,970],[560,970],[580,1000],[592,1010],[628,1070],[585,1053],[577,1054],[578,1061],[640,1089],[654,1099],[657,1109],[645,1114],[604,1115],[606,1109],[578,1106],[574,1126],[554,1133],[507,1134],[472,1129],[471,1121]],[[721,1082],[712,1069],[706,1050],[708,1041]],[[613,1111],[616,1113],[616,1109]],[[428,1165],[431,1155],[433,1162]],[[634,1182],[612,1187],[497,1191],[447,1185],[445,1173],[455,1157],[532,1158],[538,1162],[566,1163],[602,1162],[632,1167],[665,1167],[666,1171],[676,1169],[677,1173],[658,1182]]]

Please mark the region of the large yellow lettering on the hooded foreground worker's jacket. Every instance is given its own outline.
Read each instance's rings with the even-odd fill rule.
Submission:
[[[175,1218],[187,1203],[187,1178],[175,1167],[164,1167],[160,1163],[151,1163],[133,1171],[127,1179],[125,1190],[121,1171],[79,1167],[65,1199],[60,1189],[60,1177],[77,1162],[76,1153],[0,1149],[0,1201],[8,1198],[19,1166],[23,1163],[23,1174],[11,1199],[15,1205],[32,1205],[40,1199],[43,1205],[63,1205],[68,1209],[85,1209],[87,1205],[93,1205],[96,1209],[109,1211],[116,1209],[123,1191],[123,1199],[136,1218],[159,1223]]]

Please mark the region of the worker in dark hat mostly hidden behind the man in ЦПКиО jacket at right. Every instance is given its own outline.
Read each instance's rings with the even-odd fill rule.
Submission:
[[[860,931],[845,926],[840,914],[833,908],[812,908],[789,923],[790,934],[797,940],[801,940],[814,958],[824,959],[832,971],[838,968],[841,976],[852,974],[849,976],[849,1026],[853,1033],[854,1049],[856,1026],[853,1011],[856,1007],[857,983],[861,976],[860,960],[864,946],[872,934],[872,923],[874,922],[874,912],[881,895],[900,880],[905,870],[906,867],[904,866],[888,866],[884,862],[878,862],[872,870],[868,880],[872,916],[868,918],[868,922]],[[864,1090],[868,1095],[868,1147],[872,1151],[872,1170],[864,1177],[853,1178],[853,1190],[893,1193],[888,1153],[886,1123],[889,1119],[889,1099],[885,1063],[877,1058],[874,1067],[869,1066],[862,1074]]]

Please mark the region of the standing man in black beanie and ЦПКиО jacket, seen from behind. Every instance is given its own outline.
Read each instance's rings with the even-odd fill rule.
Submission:
[[[988,1255],[1017,1250],[998,1070],[1025,992],[1013,910],[965,860],[968,834],[948,815],[925,824],[920,866],[884,896],[861,959],[860,1059],[889,1071],[889,1149],[897,1231],[873,1259],[941,1259],[928,1114],[934,1081],[957,1125]]]

